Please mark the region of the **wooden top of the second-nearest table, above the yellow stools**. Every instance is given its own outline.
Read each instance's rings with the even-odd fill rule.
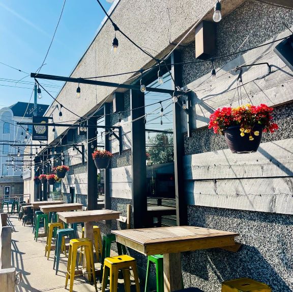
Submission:
[[[119,219],[120,214],[121,212],[107,209],[57,213],[59,219],[65,223],[95,222]]]

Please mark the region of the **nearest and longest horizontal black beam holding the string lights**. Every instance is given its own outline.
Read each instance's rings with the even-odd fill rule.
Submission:
[[[104,82],[104,81],[97,81],[97,80],[92,80],[92,79],[72,78],[72,77],[47,75],[47,74],[39,74],[39,73],[31,73],[31,77],[40,78],[40,79],[56,80],[56,81],[73,82],[73,83],[80,83],[80,84],[91,84],[91,85],[99,85],[99,86],[107,86],[107,87],[115,87],[115,88],[125,88],[125,89],[132,89],[132,90],[140,91],[140,86],[138,86],[138,85]],[[152,88],[152,87],[147,87],[147,91],[158,92],[158,93],[168,93],[170,95],[173,95],[173,93],[175,95],[182,94],[182,92],[178,91],[178,90],[169,90],[169,89]]]

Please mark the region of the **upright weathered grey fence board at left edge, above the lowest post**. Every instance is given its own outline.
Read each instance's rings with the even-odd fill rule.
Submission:
[[[0,243],[0,269],[11,267],[11,233],[12,227],[2,227]]]

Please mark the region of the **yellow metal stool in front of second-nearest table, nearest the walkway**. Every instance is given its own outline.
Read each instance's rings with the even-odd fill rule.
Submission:
[[[96,274],[95,274],[93,243],[89,238],[86,238],[86,237],[85,238],[76,238],[76,239],[70,240],[65,288],[67,287],[68,279],[70,277],[69,291],[72,292],[74,275],[75,275],[75,263],[76,263],[76,257],[77,257],[77,249],[80,247],[84,248],[85,259],[86,259],[86,273],[89,274],[90,281],[93,277],[96,292],[98,292]]]

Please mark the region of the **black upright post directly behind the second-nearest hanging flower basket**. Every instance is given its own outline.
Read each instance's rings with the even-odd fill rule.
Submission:
[[[87,120],[87,123],[96,124],[97,118],[91,118]],[[97,140],[90,142],[93,138],[96,138],[96,129],[87,128],[87,209],[96,210],[98,208],[98,172],[95,162],[92,158],[93,150],[97,147]],[[94,149],[91,145],[94,145]]]

